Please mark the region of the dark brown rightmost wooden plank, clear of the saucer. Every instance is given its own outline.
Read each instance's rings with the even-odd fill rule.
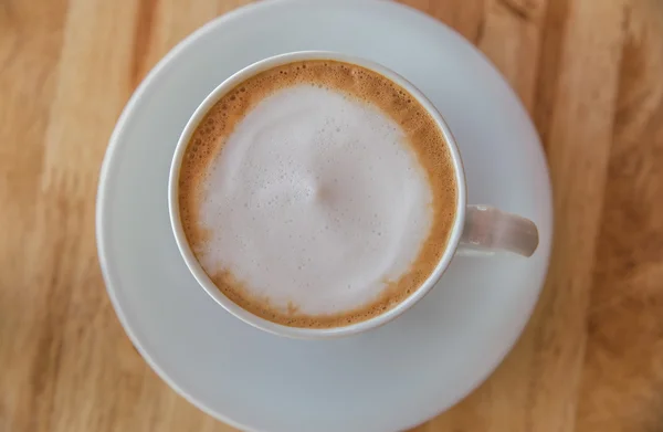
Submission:
[[[579,431],[663,429],[663,2],[628,12]]]

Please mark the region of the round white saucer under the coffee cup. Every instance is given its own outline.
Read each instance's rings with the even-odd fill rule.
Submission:
[[[278,338],[224,312],[176,246],[167,207],[170,159],[212,88],[254,61],[299,50],[364,56],[423,91],[457,138],[469,202],[533,219],[540,230],[536,254],[456,257],[410,312],[346,339]],[[102,268],[133,343],[192,403],[256,431],[396,431],[457,402],[525,326],[546,274],[550,235],[546,162],[516,96],[460,35],[388,1],[260,2],[193,33],[125,108],[97,202]]]

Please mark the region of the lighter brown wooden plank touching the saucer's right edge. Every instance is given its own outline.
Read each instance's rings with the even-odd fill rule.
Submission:
[[[575,425],[624,10],[620,1],[579,0],[568,8],[545,143],[555,187],[552,261],[538,308],[519,345],[519,349],[533,350],[527,403],[519,415],[528,431],[570,431]]]

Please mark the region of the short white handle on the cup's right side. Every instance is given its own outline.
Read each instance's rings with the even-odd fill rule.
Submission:
[[[538,229],[529,219],[487,206],[467,206],[460,255],[491,255],[498,251],[532,256]]]

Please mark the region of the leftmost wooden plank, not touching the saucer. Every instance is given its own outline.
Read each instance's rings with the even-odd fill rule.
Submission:
[[[0,2],[0,431],[43,428],[53,407],[51,350],[41,340],[44,326],[57,331],[57,310],[35,286],[41,239],[27,233],[38,219],[65,18],[66,1]]]

